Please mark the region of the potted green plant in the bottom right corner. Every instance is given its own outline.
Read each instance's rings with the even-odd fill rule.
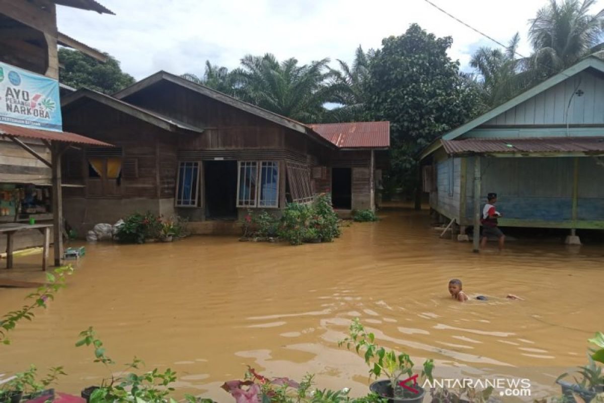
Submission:
[[[579,367],[577,373],[580,378],[575,377],[574,383],[563,381],[562,378],[568,376],[568,373],[563,373],[556,379],[556,383],[562,388],[562,394],[569,403],[576,402],[574,396],[578,396],[589,403],[596,398],[600,393],[604,393],[604,374],[602,366],[598,363],[604,363],[604,334],[597,332],[594,338],[589,341],[596,344],[597,349],[590,349],[588,353],[588,364]]]

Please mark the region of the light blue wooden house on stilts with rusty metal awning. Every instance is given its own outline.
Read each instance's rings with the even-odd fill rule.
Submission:
[[[424,191],[461,234],[495,192],[501,227],[568,228],[577,243],[577,228],[604,229],[603,156],[604,61],[588,57],[426,147]]]

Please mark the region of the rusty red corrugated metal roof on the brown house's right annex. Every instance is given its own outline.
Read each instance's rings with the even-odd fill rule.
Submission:
[[[386,148],[390,146],[390,122],[309,124],[313,131],[339,148]]]

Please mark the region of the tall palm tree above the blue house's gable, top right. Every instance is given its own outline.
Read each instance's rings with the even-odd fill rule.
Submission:
[[[539,79],[565,69],[597,50],[602,41],[604,10],[590,14],[596,0],[550,0],[530,20],[528,38],[533,45],[531,68]]]

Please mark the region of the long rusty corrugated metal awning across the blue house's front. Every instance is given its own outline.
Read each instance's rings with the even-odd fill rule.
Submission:
[[[604,137],[466,138],[441,141],[448,154],[604,152]]]

